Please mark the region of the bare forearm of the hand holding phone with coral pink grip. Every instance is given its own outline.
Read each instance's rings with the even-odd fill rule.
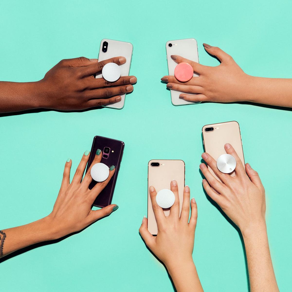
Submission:
[[[292,107],[292,79],[247,76],[243,100]]]

